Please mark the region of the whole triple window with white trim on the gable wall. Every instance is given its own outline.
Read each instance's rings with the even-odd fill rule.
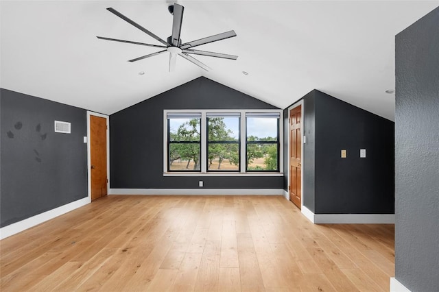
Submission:
[[[165,110],[164,172],[280,173],[281,112]]]

